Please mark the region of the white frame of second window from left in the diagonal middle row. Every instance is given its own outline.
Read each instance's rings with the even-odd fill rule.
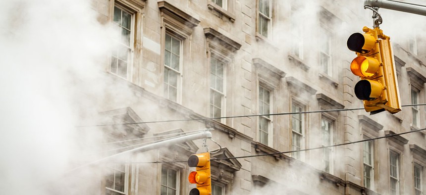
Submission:
[[[171,40],[173,41],[173,39],[177,40],[179,42],[179,70],[176,70],[174,68],[172,68],[171,66],[167,66],[165,63],[165,53],[166,53],[166,37],[169,36],[171,37]],[[167,88],[167,94],[164,93],[165,91],[165,87],[166,87],[166,83],[164,82],[165,80],[165,71],[166,69],[168,69],[169,71],[172,71],[173,73],[177,74],[177,84],[176,84],[176,100],[174,102],[176,103],[181,103],[182,101],[182,78],[183,78],[183,58],[184,58],[184,42],[185,39],[181,36],[178,36],[176,33],[174,33],[171,30],[166,30],[166,32],[164,33],[164,37],[163,37],[163,49],[162,49],[162,62],[163,62],[163,92],[162,92],[162,97],[169,99],[170,101],[174,101],[172,99],[170,99],[170,93],[169,93],[169,88]],[[172,46],[171,46],[172,47]],[[171,60],[171,55],[170,55],[170,60]],[[171,62],[170,62],[171,63]],[[171,65],[171,64],[170,64]],[[169,83],[169,82],[168,82]],[[167,86],[170,86],[169,84],[167,84]],[[167,95],[167,97],[166,97]]]

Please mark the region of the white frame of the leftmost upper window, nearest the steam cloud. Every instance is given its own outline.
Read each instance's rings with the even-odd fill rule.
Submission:
[[[131,20],[130,21],[130,27],[131,28],[130,28],[130,35],[129,35],[130,36],[129,46],[126,46],[126,45],[120,43],[121,41],[113,40],[113,42],[117,44],[117,47],[114,47],[114,48],[118,48],[119,46],[124,46],[127,49],[129,49],[128,54],[127,54],[128,56],[127,56],[126,77],[123,77],[123,76],[118,74],[118,64],[117,64],[117,71],[113,72],[113,70],[112,70],[112,60],[115,57],[115,58],[117,58],[117,63],[118,63],[118,57],[119,57],[118,53],[117,53],[117,56],[113,56],[113,54],[111,52],[111,55],[109,57],[110,63],[108,65],[107,69],[111,74],[114,74],[114,75],[116,75],[120,78],[131,81],[132,80],[132,74],[131,73],[133,71],[133,58],[134,58],[135,43],[136,43],[136,40],[135,40],[136,36],[135,35],[137,34],[136,31],[138,30],[138,28],[136,27],[135,20],[136,20],[136,14],[138,13],[138,10],[136,8],[131,7],[128,3],[125,3],[124,1],[119,1],[119,0],[114,0],[111,7],[112,8],[111,8],[110,22],[111,22],[111,24],[116,25],[120,29],[120,35],[121,35],[122,26],[121,26],[121,24],[118,25],[117,23],[114,22],[115,7],[121,9],[122,12],[124,11],[124,12],[131,15],[131,18],[130,18],[130,20]],[[120,36],[120,39],[121,39],[121,36]]]

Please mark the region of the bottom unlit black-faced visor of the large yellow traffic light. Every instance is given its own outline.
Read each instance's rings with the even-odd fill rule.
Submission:
[[[381,96],[383,86],[372,80],[361,80],[355,85],[355,96],[361,100],[373,100]]]

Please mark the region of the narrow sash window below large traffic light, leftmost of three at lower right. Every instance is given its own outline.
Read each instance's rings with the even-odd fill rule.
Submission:
[[[373,141],[364,142],[364,152],[363,152],[363,161],[364,161],[364,187],[368,189],[373,188],[374,182],[374,171],[373,171]]]

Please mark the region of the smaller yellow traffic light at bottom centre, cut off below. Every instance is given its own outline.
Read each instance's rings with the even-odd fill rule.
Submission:
[[[189,195],[211,195],[210,153],[205,152],[189,156],[188,166],[196,169],[196,171],[189,173],[189,183],[197,184],[197,188],[192,189]]]

